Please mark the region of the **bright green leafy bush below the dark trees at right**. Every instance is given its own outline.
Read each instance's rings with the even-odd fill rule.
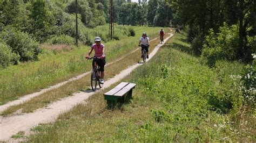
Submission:
[[[231,27],[224,24],[219,28],[220,33],[215,34],[210,29],[205,38],[201,58],[208,65],[214,65],[216,60],[237,60],[239,58],[239,33],[238,26]]]

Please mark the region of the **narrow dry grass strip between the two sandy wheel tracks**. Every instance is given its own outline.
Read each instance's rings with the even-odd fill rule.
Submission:
[[[158,42],[158,40],[151,41],[152,47],[156,46]],[[153,48],[150,48],[150,52],[152,50]],[[134,63],[137,63],[139,60],[140,51],[126,54],[124,59],[109,66],[106,66],[105,79],[113,77],[114,75],[118,74],[121,70],[126,69],[128,66],[134,65]],[[86,62],[91,63],[91,61]],[[60,98],[70,96],[73,92],[76,92],[78,90],[86,90],[87,87],[90,87],[90,74],[83,78],[80,78],[79,80],[65,84],[58,89],[53,89],[51,91],[45,92],[44,94],[34,97],[22,104],[10,106],[8,109],[3,111],[1,115],[9,115],[10,113],[16,112],[18,109],[22,109],[22,112],[32,112],[38,108],[43,108],[49,103],[57,101]]]

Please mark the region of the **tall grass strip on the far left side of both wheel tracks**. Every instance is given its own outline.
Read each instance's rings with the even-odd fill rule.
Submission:
[[[150,37],[157,36],[158,28],[133,27],[136,37],[125,37],[119,41],[105,43],[107,62],[133,51],[138,44],[139,35],[147,31]],[[71,51],[45,50],[39,61],[22,63],[0,71],[0,105],[15,100],[25,94],[54,85],[70,77],[82,74],[91,69],[85,61],[90,47],[71,46]]]

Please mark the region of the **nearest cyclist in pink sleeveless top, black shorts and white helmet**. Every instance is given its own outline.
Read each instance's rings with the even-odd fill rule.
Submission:
[[[100,37],[95,37],[95,44],[92,45],[89,53],[86,55],[86,59],[89,59],[90,54],[92,53],[92,51],[95,51],[95,55],[98,59],[97,59],[97,64],[100,67],[100,76],[102,77],[99,82],[100,83],[104,83],[104,66],[106,64],[106,60],[105,60],[105,53],[104,53],[104,45],[100,43]],[[93,59],[92,61],[92,66],[94,66],[95,59]]]

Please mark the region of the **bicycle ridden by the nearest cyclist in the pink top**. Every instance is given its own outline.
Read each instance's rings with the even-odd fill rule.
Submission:
[[[94,61],[94,66],[92,68],[92,71],[91,71],[91,87],[92,87],[92,91],[96,91],[97,89],[97,82],[99,84],[99,88],[102,88],[103,87],[103,84],[100,83],[100,70],[99,70],[99,66],[98,66],[98,59],[100,58],[97,58],[96,56],[92,56],[91,58],[89,58],[88,60],[91,60],[93,59]]]

